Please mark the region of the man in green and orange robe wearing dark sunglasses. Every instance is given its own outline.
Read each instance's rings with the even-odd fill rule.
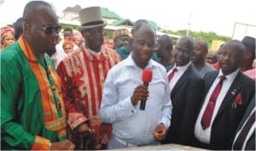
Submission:
[[[49,3],[32,1],[23,13],[23,35],[1,56],[1,147],[3,150],[73,150],[61,81],[47,53],[61,31]]]

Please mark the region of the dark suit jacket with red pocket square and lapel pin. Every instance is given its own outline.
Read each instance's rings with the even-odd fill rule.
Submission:
[[[206,95],[213,81],[218,76],[218,71],[210,71],[204,77],[206,82]],[[226,93],[218,113],[212,122],[211,141],[209,149],[230,150],[233,137],[242,115],[247,109],[249,101],[255,93],[255,81],[244,76],[240,71]],[[241,105],[233,105],[237,95],[241,94]],[[205,96],[206,96],[205,95]],[[202,105],[202,103],[201,103]]]

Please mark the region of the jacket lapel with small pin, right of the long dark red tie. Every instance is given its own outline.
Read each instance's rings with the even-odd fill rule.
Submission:
[[[237,94],[240,92],[242,86],[242,81],[241,81],[241,72],[239,72],[235,78],[235,80],[232,82],[230,89],[226,93],[226,96],[224,97],[223,102],[220,105],[220,108],[218,109],[218,114],[216,115],[216,118],[218,115],[220,115],[226,106],[230,104],[230,101],[234,101],[236,98]],[[231,104],[232,105],[232,104]]]

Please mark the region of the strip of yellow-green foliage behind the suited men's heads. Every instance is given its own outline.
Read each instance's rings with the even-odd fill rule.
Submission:
[[[174,34],[178,36],[183,36],[187,34],[187,30],[180,30],[180,31],[166,31],[163,30],[163,32],[167,34]],[[189,31],[189,36],[192,36],[194,39],[205,39],[209,46],[212,45],[212,41],[224,41],[228,42],[231,40],[230,36],[219,36],[215,32],[210,31],[210,32],[203,32],[203,31]],[[177,40],[173,41],[174,43],[177,42]]]

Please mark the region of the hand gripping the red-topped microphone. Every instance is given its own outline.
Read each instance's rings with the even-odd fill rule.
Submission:
[[[148,98],[148,87],[140,85],[136,87],[131,96],[131,103],[135,106],[141,100],[147,100]]]

